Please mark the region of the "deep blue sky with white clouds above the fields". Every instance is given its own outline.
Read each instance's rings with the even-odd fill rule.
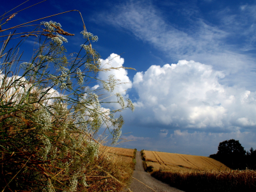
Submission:
[[[2,2],[1,13],[20,2]],[[245,150],[256,148],[256,1],[48,0],[19,12],[6,27],[68,10],[79,10],[87,31],[99,37],[92,47],[102,63],[136,69],[98,76],[115,75],[125,84],[114,93],[134,102],[133,113],[122,112],[122,138],[132,141],[116,147],[209,156],[221,141],[234,139]],[[65,46],[79,50],[79,13],[42,21],[49,20],[74,33]],[[32,51],[33,37],[24,46]]]

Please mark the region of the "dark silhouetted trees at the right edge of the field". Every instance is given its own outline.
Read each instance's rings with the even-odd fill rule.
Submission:
[[[256,150],[249,151],[238,140],[226,140],[219,144],[218,152],[209,157],[216,159],[233,170],[256,170]]]

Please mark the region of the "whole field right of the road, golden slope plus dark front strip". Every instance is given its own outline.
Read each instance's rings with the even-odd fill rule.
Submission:
[[[184,191],[255,191],[256,172],[231,170],[209,157],[141,151],[145,171]]]

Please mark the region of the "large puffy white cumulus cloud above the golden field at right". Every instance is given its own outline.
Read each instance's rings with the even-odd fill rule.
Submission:
[[[181,129],[250,129],[256,125],[256,93],[224,86],[223,78],[223,72],[195,61],[152,65],[133,79],[137,120]]]

